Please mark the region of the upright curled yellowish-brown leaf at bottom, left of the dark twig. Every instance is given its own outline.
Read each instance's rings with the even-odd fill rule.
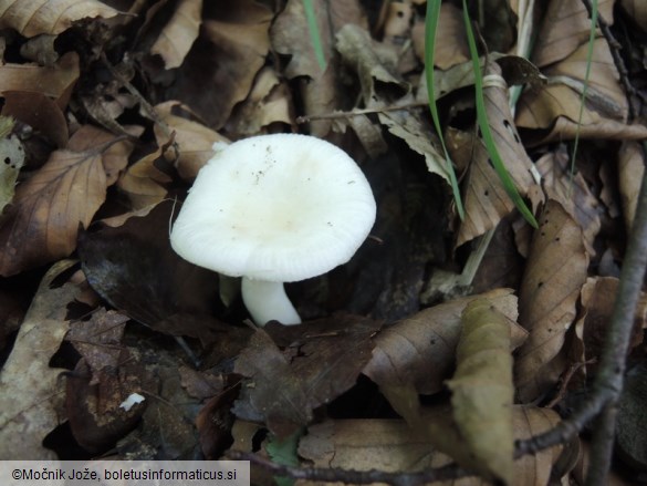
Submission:
[[[512,484],[512,355],[510,324],[488,299],[474,299],[461,314],[457,369],[446,382],[453,421],[484,477]],[[497,447],[492,447],[497,444]]]

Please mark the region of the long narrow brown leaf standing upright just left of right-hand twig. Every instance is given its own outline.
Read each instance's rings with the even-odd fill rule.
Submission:
[[[551,362],[575,319],[588,267],[582,229],[560,203],[550,199],[539,223],[519,297],[519,323],[530,332],[514,363],[522,402],[547,391],[563,372],[562,364]]]

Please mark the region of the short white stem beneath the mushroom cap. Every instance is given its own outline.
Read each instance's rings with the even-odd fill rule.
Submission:
[[[272,320],[285,325],[301,323],[301,318],[285,293],[283,282],[243,277],[242,301],[258,325],[265,325]]]

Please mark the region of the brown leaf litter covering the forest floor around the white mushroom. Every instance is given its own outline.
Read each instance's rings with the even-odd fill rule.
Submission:
[[[617,291],[602,269],[623,259],[646,135],[628,121],[626,74],[603,35],[576,126],[582,2],[538,7],[528,60],[509,55],[526,28],[515,2],[489,1],[499,14],[480,19],[498,80],[486,87],[490,126],[536,230],[501,190],[476,128],[452,3],[441,7],[435,91],[465,221],[428,112],[424,1],[316,2],[325,66],[301,0],[6,3],[1,115],[15,122],[0,133],[1,458],[219,458],[232,444],[273,455],[290,437],[295,465],[410,472],[456,461],[508,484],[566,480],[578,441],[514,463],[513,441],[554,425],[597,371]],[[628,38],[644,35],[640,2],[599,9]],[[644,79],[638,51],[625,49],[625,69]],[[181,260],[168,232],[213,143],[275,132],[346,149],[378,217],[349,263],[288,287],[303,325],[252,329],[239,282]],[[576,133],[589,143],[571,161]],[[472,280],[463,266],[492,231]],[[437,293],[442,276],[461,278]],[[634,364],[644,322],[639,310]],[[626,433],[643,375],[632,370],[620,430],[630,471],[643,461]],[[143,400],[126,410],[135,393]],[[61,424],[67,443],[55,438]]]

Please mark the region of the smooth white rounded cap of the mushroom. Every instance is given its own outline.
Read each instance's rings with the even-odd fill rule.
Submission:
[[[345,263],[375,223],[366,177],[337,146],[275,134],[225,146],[174,224],[184,259],[232,277],[296,281]]]

